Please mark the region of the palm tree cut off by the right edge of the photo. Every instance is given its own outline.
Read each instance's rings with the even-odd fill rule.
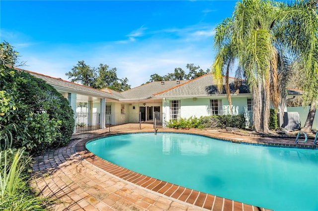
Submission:
[[[299,0],[285,6],[282,21],[286,23],[285,41],[306,77],[304,105],[310,105],[302,131],[310,132],[318,104],[318,1]]]

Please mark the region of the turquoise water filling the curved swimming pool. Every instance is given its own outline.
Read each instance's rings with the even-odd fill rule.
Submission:
[[[276,211],[318,211],[318,150],[178,133],[110,136],[86,148],[130,170],[201,192]]]

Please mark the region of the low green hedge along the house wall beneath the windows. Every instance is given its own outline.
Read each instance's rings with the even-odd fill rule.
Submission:
[[[189,128],[226,128],[236,127],[243,129],[245,128],[246,120],[243,114],[239,115],[211,115],[190,117],[189,119],[170,119],[167,122],[167,127],[175,129],[189,129]]]

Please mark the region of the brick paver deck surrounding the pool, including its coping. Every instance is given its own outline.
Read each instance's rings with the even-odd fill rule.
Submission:
[[[86,151],[87,141],[114,133],[154,132],[152,125],[141,130],[92,131],[73,135],[67,146],[36,157],[31,186],[45,197],[57,199],[56,211],[267,211],[230,199],[201,193],[130,171]],[[159,129],[210,136],[233,142],[273,146],[318,148],[313,141],[295,145],[294,139],[260,138],[209,130]]]

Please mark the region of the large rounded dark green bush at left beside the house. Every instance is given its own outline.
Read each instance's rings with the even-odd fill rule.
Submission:
[[[0,129],[14,123],[12,147],[40,154],[70,142],[75,120],[67,99],[22,70],[0,65],[0,75]]]

